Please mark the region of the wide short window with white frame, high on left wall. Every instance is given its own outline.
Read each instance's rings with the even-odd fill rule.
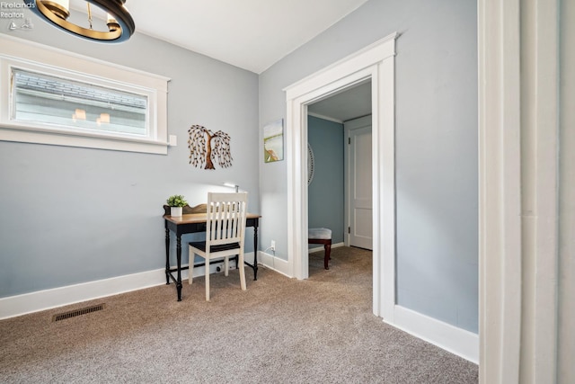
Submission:
[[[167,154],[168,81],[0,35],[0,140]]]

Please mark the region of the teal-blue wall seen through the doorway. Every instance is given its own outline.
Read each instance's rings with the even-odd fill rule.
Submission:
[[[307,117],[307,142],[314,151],[314,179],[307,187],[309,228],[332,229],[343,242],[343,124]]]

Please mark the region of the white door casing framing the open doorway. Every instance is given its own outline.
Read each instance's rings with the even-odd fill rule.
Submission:
[[[308,277],[307,105],[349,86],[372,81],[373,312],[393,318],[395,301],[395,177],[393,33],[286,92],[288,159],[288,263],[297,279]]]

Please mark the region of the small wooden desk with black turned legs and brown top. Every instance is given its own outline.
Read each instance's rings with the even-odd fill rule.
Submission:
[[[260,225],[260,215],[248,213],[245,221],[246,227],[253,227],[253,265],[244,262],[246,265],[252,267],[253,280],[258,280],[258,226]],[[181,271],[187,270],[189,267],[181,267],[181,235],[187,233],[206,232],[206,213],[190,213],[184,214],[179,218],[173,218],[170,215],[164,215],[165,227],[165,283],[170,284],[170,279],[176,283],[178,290],[178,301],[181,301]],[[170,231],[176,235],[176,260],[177,267],[170,267]],[[193,257],[190,258],[190,263],[193,263]],[[219,262],[217,262],[219,263]],[[204,264],[194,264],[204,265]],[[173,272],[177,272],[176,277],[173,277]],[[209,272],[209,266],[206,268]]]

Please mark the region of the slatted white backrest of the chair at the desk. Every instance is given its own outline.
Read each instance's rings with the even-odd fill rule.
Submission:
[[[209,192],[206,242],[210,246],[229,243],[243,246],[246,210],[247,192]]]

